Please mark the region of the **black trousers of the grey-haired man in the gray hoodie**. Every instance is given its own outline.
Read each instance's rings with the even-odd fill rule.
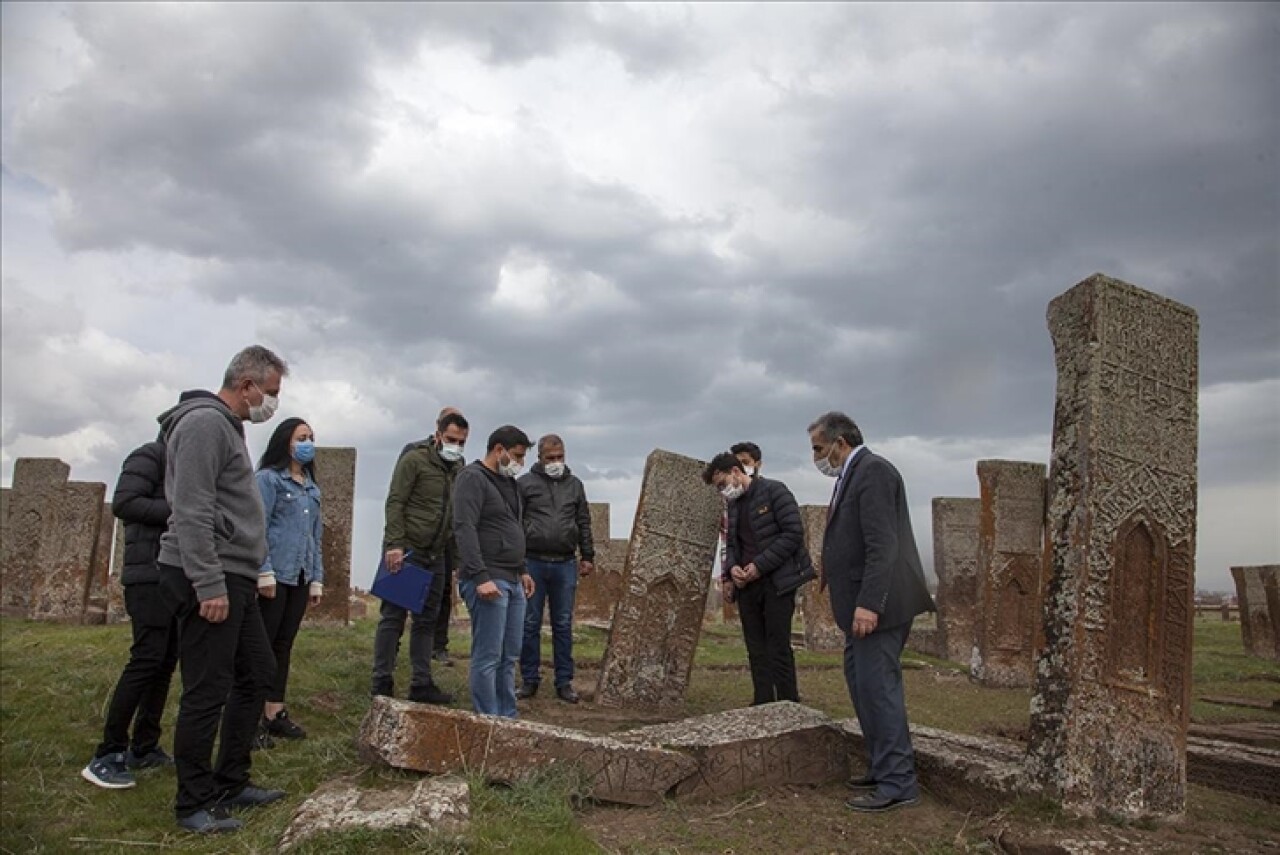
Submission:
[[[160,590],[178,614],[182,700],[173,735],[174,811],[188,817],[248,783],[250,751],[275,677],[275,655],[257,608],[257,580],[227,575],[230,611],[221,623],[200,617],[196,591],[180,567],[160,566]]]

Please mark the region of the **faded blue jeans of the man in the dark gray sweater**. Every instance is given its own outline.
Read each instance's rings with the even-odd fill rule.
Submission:
[[[471,708],[484,715],[516,718],[516,660],[524,640],[525,591],[520,582],[493,580],[502,593],[481,599],[472,579],[458,580],[471,613]]]

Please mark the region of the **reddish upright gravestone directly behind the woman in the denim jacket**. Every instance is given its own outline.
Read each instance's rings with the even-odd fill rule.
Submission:
[[[351,619],[351,531],[356,513],[356,449],[316,448],[316,483],[324,521],[324,596],[307,609],[307,621],[342,623]]]

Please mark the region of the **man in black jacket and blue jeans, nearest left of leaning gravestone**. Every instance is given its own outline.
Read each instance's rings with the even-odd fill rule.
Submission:
[[[521,686],[516,698],[532,698],[541,681],[543,608],[550,604],[556,696],[576,704],[573,691],[573,598],[577,577],[595,570],[591,508],[586,490],[564,465],[564,440],[538,440],[538,462],[517,481],[525,504],[525,566],[534,595],[525,605],[525,641],[520,649]],[[577,555],[581,554],[581,561]]]

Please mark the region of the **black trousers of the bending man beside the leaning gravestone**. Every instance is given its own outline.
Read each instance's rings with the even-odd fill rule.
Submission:
[[[791,653],[791,617],[796,594],[774,593],[767,579],[737,591],[737,616],[742,621],[746,659],[751,666],[751,704],[800,700],[796,662]]]

